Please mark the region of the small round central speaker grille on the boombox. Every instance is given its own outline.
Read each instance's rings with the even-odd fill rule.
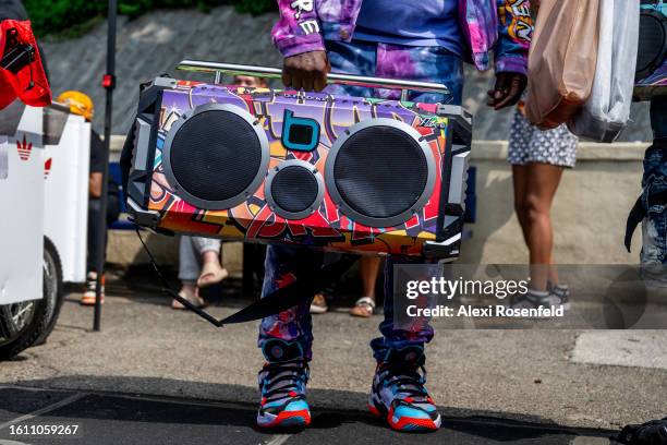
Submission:
[[[276,173],[270,193],[281,209],[289,213],[304,212],[317,200],[317,180],[305,167],[289,166]]]

